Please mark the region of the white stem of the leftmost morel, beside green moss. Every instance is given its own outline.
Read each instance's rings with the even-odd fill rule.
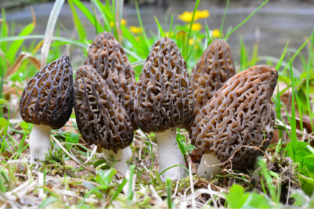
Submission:
[[[50,126],[33,125],[30,133],[30,163],[40,164],[40,160],[45,160],[45,153],[51,149]]]

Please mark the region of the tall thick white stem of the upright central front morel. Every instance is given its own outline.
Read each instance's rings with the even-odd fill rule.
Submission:
[[[155,133],[158,148],[159,173],[174,165],[184,165],[182,153],[176,142],[176,128],[168,129],[162,133]],[[160,179],[166,182],[167,178],[178,180],[178,175],[185,176],[185,169],[181,166],[175,166],[166,170]]]

